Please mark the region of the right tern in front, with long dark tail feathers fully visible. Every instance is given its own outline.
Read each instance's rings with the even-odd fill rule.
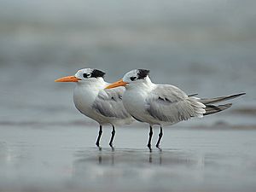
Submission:
[[[109,84],[106,89],[125,86],[123,96],[125,109],[134,119],[149,125],[148,148],[150,151],[153,125],[160,125],[160,133],[156,143],[156,147],[160,148],[164,125],[173,125],[190,118],[201,118],[208,114],[218,113],[230,108],[232,103],[213,104],[245,95],[245,93],[241,93],[210,99],[195,97],[197,94],[188,96],[176,86],[152,83],[148,75],[149,70],[147,69],[131,70],[125,73],[123,79]]]

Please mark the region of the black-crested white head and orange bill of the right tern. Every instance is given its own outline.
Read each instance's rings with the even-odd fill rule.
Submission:
[[[109,84],[108,87],[106,87],[106,89],[111,89],[119,86],[125,86],[126,88],[128,88],[135,84],[151,83],[148,75],[149,75],[149,70],[147,69],[134,69],[128,73],[125,73],[125,76],[123,79],[120,79],[119,81],[113,84]]]

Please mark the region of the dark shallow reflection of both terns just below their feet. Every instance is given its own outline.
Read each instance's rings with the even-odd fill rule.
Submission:
[[[203,157],[198,157],[191,152],[184,152],[178,149],[164,149],[155,151],[148,151],[148,149],[137,149],[137,148],[119,148],[111,150],[104,148],[98,150],[91,148],[91,150],[77,151],[74,154],[76,160],[74,161],[75,166],[83,164],[94,164],[102,166],[117,166],[117,165],[130,165],[136,163],[139,165],[186,165],[191,166],[198,164],[198,161],[203,161]]]

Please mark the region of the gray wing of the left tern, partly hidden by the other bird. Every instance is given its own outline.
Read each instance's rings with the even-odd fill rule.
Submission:
[[[113,117],[119,119],[130,118],[131,116],[126,112],[122,102],[124,92],[124,87],[101,90],[96,97],[92,108],[96,110],[97,113],[101,113],[105,117]]]

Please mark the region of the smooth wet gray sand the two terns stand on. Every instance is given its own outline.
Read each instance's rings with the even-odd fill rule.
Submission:
[[[0,191],[255,191],[256,131],[119,128],[115,149],[97,127],[1,126]],[[158,129],[154,129],[154,143]]]

